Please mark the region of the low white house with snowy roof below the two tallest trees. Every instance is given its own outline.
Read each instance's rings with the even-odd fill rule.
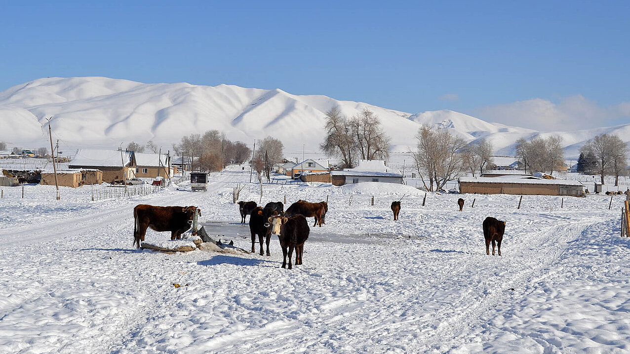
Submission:
[[[403,184],[403,175],[390,169],[383,160],[359,160],[355,169],[330,172],[333,185],[360,182],[386,182]]]

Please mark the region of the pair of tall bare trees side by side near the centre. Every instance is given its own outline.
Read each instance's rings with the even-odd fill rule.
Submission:
[[[358,160],[387,160],[391,138],[381,126],[379,116],[369,109],[348,118],[338,106],[326,112],[326,136],[321,151],[341,160],[341,167],[352,169]]]

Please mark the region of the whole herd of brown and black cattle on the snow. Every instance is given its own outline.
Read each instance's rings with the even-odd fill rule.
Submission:
[[[292,268],[291,258],[295,250],[295,265],[302,264],[302,252],[304,242],[311,232],[306,218],[314,218],[314,226],[326,224],[326,213],[328,212],[327,202],[307,202],[297,201],[284,210],[282,202],[269,202],[265,207],[260,207],[256,202],[239,201],[241,212],[241,223],[246,222],[249,215],[249,231],[251,233],[251,252],[254,253],[256,245],[256,235],[260,245],[260,255],[263,255],[263,240],[266,241],[266,255],[271,255],[269,251],[269,241],[272,237],[278,236],[280,247],[282,248],[282,268],[287,267],[287,256],[289,269]],[[457,201],[459,211],[464,208],[464,199]],[[398,220],[400,213],[400,201],[391,204],[394,220]],[[171,231],[171,240],[181,238],[193,223],[195,213],[201,215],[200,209],[195,206],[151,206],[139,204],[134,208],[134,245],[140,247],[140,241],[144,241],[147,228],[163,232]],[[501,255],[501,241],[505,232],[505,221],[488,217],[483,221],[483,236],[486,240],[486,254],[490,255],[490,243],[492,243],[492,255],[495,255],[495,244],[498,246],[498,255]]]

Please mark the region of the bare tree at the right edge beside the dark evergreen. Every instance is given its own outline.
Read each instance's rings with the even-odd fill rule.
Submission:
[[[600,181],[604,184],[604,176],[615,174],[615,185],[619,182],[619,173],[626,164],[627,144],[617,135],[602,134],[589,140],[580,152],[595,156],[595,170],[600,175]]]

